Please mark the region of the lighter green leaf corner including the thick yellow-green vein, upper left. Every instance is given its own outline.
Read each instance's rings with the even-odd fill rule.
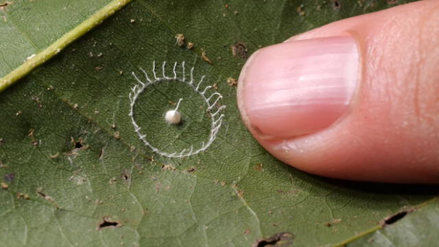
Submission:
[[[0,17],[3,23],[0,23],[0,37],[3,40],[0,39],[0,77],[4,77],[0,80],[0,92],[60,53],[64,47],[131,0],[113,0],[85,19],[100,7],[99,1],[92,8],[87,8],[88,1],[19,1],[18,5],[11,1],[1,3]],[[67,32],[66,29],[71,26],[74,28]]]

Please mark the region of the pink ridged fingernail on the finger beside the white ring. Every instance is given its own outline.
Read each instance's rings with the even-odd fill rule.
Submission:
[[[239,107],[263,134],[312,134],[346,113],[358,71],[359,51],[353,36],[265,47],[249,58],[239,76],[243,101]]]

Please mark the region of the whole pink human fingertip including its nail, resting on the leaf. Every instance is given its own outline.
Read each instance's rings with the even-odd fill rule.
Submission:
[[[423,2],[331,23],[253,54],[237,102],[255,139],[320,176],[439,183],[439,86],[431,80],[439,78],[431,69],[439,52],[425,48],[438,44],[433,34],[413,34],[437,3]],[[392,21],[398,25],[385,27]]]

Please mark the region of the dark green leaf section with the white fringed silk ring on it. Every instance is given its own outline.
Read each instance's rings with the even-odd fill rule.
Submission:
[[[436,187],[329,180],[277,161],[241,123],[236,87],[227,82],[239,75],[244,47],[248,56],[313,27],[387,7],[385,1],[133,1],[1,93],[2,244],[336,246],[429,202]],[[182,47],[176,34],[185,35]],[[15,67],[12,57],[6,59]],[[145,83],[141,68],[154,78],[154,61],[160,78],[163,62],[169,78],[178,62],[180,81],[161,80],[139,93],[133,119],[141,134],[170,154],[209,142],[209,105],[185,83],[193,67],[195,82],[205,75],[201,89],[214,86],[206,95],[219,92],[219,105],[226,106],[205,152],[168,158],[134,132],[129,95],[141,84],[132,72]],[[180,98],[183,122],[169,126],[163,116]]]

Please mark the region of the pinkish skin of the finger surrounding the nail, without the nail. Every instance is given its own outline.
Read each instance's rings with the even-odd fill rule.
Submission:
[[[358,82],[347,110],[330,126],[298,136],[291,134],[294,131],[277,134],[276,126],[263,132],[270,124],[260,124],[261,116],[248,110],[253,102],[246,93],[257,92],[263,83],[248,79],[252,78],[248,73],[256,70],[254,61],[279,62],[263,48],[249,58],[239,77],[237,100],[244,123],[268,152],[311,174],[385,183],[439,183],[438,13],[439,1],[418,1],[337,21],[286,40],[348,35],[358,47]],[[270,52],[285,49],[285,43]],[[313,119],[318,121],[318,116]],[[295,121],[293,117],[265,120],[282,130]]]

